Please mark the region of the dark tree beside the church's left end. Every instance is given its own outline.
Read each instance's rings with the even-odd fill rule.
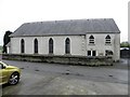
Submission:
[[[10,42],[10,34],[12,32],[10,30],[5,31],[4,36],[3,36],[3,52],[2,53],[6,53],[6,44]]]

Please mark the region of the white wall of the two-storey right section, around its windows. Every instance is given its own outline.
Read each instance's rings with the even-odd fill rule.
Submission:
[[[106,36],[110,36],[110,44],[105,44],[105,38]],[[120,34],[119,33],[93,33],[92,36],[94,37],[94,45],[89,44],[89,37],[91,34],[86,36],[86,41],[87,41],[87,51],[96,51],[96,56],[100,54],[103,54],[105,56],[105,50],[110,50],[114,53],[113,58],[115,60],[118,60],[120,57]],[[88,55],[88,52],[87,52]]]

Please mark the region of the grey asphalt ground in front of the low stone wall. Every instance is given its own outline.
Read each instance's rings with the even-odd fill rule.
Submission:
[[[20,83],[3,85],[2,95],[128,95],[128,64],[87,67],[2,60],[22,70]]]

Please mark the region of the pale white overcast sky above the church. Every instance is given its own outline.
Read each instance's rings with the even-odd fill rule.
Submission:
[[[0,45],[6,30],[29,22],[114,18],[120,41],[128,40],[129,0],[0,0]]]

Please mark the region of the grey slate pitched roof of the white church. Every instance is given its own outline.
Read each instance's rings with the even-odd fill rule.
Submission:
[[[10,37],[120,32],[113,18],[25,23]]]

